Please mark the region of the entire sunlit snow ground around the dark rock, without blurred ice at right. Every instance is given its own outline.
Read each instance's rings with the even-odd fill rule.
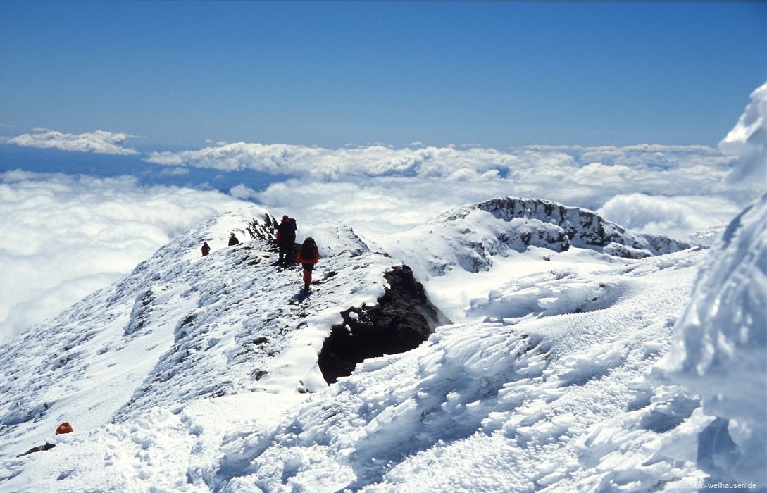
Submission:
[[[482,273],[448,270],[426,287],[457,324],[328,387],[322,340],[344,308],[383,294],[398,262],[347,228],[305,228],[325,282],[296,302],[298,271],[275,271],[265,244],[220,246],[263,213],[193,228],[5,347],[4,490],[634,490],[702,476],[694,456],[643,465],[652,444],[706,421],[699,399],[644,375],[707,251],[528,248]],[[55,449],[14,457],[63,420],[75,432]]]

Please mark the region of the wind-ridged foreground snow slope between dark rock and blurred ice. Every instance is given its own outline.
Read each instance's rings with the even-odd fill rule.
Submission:
[[[678,397],[679,416],[670,416],[632,381],[668,349],[701,255],[648,258],[584,279],[604,278],[614,291],[614,303],[600,310],[444,326],[416,350],[368,360],[274,429],[230,434],[209,485],[571,491],[578,481],[598,484],[592,475],[621,444],[592,453],[583,445],[591,430],[633,412],[637,433],[660,439],[696,407]],[[690,470],[682,461],[664,474]]]

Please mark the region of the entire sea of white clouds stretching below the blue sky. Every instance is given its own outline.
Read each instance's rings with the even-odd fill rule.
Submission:
[[[0,173],[0,341],[120,278],[174,235],[229,209],[258,202],[301,224],[343,222],[362,235],[396,232],[453,207],[496,196],[551,199],[601,212],[644,232],[686,239],[728,222],[765,189],[767,84],[720,144],[706,146],[526,146],[509,151],[411,145],[328,150],[216,143],[148,153],[170,172],[186,166],[295,176],[229,195],[137,179]],[[36,129],[6,144],[115,155],[124,133]],[[745,153],[745,154],[744,154]],[[732,172],[736,158],[739,166]],[[300,234],[300,232],[299,232]]]

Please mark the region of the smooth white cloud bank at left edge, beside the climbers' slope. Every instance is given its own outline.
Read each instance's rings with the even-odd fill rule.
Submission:
[[[0,174],[0,340],[116,281],[156,248],[243,202],[130,177]]]

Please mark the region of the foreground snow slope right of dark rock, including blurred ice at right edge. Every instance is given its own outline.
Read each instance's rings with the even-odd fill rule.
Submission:
[[[765,491],[765,220],[767,197],[711,252],[500,284],[472,307],[485,321],[364,363],[267,433],[229,435],[237,461],[208,484]]]

